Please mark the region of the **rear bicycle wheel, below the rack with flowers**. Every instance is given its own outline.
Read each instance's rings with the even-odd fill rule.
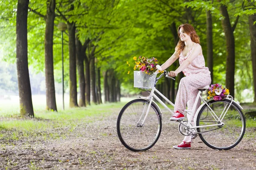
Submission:
[[[235,147],[244,136],[245,119],[239,106],[231,100],[210,101],[198,113],[197,126],[216,125],[197,128],[201,140],[212,149],[228,150]],[[214,119],[214,113],[222,121]],[[226,113],[226,114],[225,114]],[[223,115],[225,115],[223,117]],[[219,124],[219,125],[218,125]]]

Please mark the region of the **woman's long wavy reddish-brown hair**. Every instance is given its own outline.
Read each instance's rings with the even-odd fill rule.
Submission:
[[[179,28],[178,28],[179,38],[180,38],[180,28],[183,28],[184,32],[190,36],[190,38],[193,42],[200,44],[199,37],[196,34],[195,28],[192,25],[190,25],[190,24],[180,25]],[[175,51],[177,51],[177,53],[178,53],[177,58],[179,58],[180,53],[184,49],[184,47],[185,47],[185,42],[179,40],[178,44],[175,47]]]

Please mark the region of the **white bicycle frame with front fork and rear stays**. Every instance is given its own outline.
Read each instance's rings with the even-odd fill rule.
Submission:
[[[156,81],[157,82],[157,81]],[[155,83],[156,84],[156,83]],[[143,110],[143,113],[142,115],[140,116],[140,119],[138,121],[138,125],[139,125],[139,122],[141,122],[141,120],[143,119],[143,122],[141,123],[141,126],[144,125],[144,122],[145,122],[145,119],[146,117],[148,116],[148,112],[149,112],[149,109],[150,109],[150,106],[151,106],[151,103],[153,101],[153,99],[155,98],[161,105],[163,105],[164,108],[167,109],[167,111],[169,111],[170,113],[174,114],[174,112],[168,108],[168,106],[166,106],[166,104],[164,102],[161,101],[161,99],[159,99],[159,97],[157,97],[156,94],[154,94],[154,92],[156,92],[157,94],[159,94],[161,97],[163,97],[163,99],[165,99],[170,105],[174,106],[174,103],[172,103],[169,99],[166,98],[166,96],[164,96],[162,93],[160,93],[160,91],[158,91],[155,87],[153,87],[151,89],[151,93],[150,95],[148,96],[148,101],[149,101],[149,104],[148,104],[148,108],[145,112],[145,117],[143,119],[143,116],[144,116],[144,111],[145,111],[145,108]],[[205,101],[202,96],[201,96],[202,92],[201,90],[198,90],[198,94],[196,96],[196,99],[195,99],[195,103],[193,105],[193,108],[192,108],[192,111],[189,111],[189,110],[185,110],[185,112],[187,113],[190,113],[190,116],[189,116],[189,120],[187,122],[187,124],[183,124],[182,122],[180,122],[181,124],[183,124],[184,126],[188,127],[189,129],[195,129],[195,128],[199,128],[199,127],[211,127],[211,126],[223,126],[224,123],[222,122],[224,116],[226,115],[228,109],[230,108],[232,102],[233,102],[233,97],[230,96],[232,98],[232,101],[230,102],[230,105],[226,105],[224,110],[222,111],[221,113],[221,116],[218,117],[214,111],[212,111],[212,108],[210,108],[210,106],[208,105],[207,101]],[[198,103],[198,100],[201,99],[201,101],[203,101],[203,104],[198,108],[198,110],[196,111],[195,113],[195,108],[196,108],[196,104]],[[212,115],[212,117],[215,119],[216,122],[218,122],[218,124],[213,124],[213,125],[202,125],[202,126],[195,126],[195,122],[196,122],[196,119],[197,119],[197,115],[198,115],[198,112],[200,111],[200,109],[202,108],[203,105],[207,105],[207,107],[210,109],[210,113]],[[193,119],[193,125],[191,125],[191,122],[192,122],[192,118],[194,117]]]

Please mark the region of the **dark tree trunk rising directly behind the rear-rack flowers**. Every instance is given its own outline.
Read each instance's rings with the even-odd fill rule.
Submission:
[[[218,0],[220,1],[220,0]],[[230,24],[229,15],[227,12],[227,6],[223,4],[220,6],[221,14],[224,19],[221,20],[221,25],[225,33],[226,43],[227,43],[227,59],[226,63],[226,88],[229,89],[230,95],[235,97],[235,39],[233,34],[233,29]]]

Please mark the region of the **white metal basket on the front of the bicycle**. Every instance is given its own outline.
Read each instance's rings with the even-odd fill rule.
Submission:
[[[153,88],[156,80],[156,74],[144,74],[141,71],[134,71],[135,88]]]

